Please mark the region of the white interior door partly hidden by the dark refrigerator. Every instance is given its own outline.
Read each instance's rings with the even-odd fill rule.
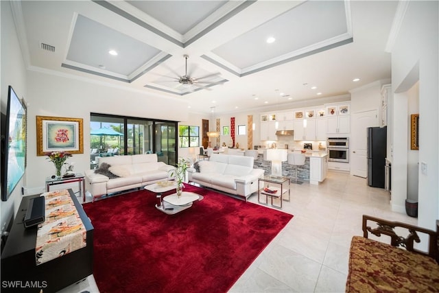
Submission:
[[[378,110],[353,114],[350,139],[351,174],[366,178],[368,176],[368,127],[378,126]]]

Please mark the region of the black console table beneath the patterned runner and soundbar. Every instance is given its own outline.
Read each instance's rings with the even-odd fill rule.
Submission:
[[[29,199],[39,195],[23,197],[1,254],[1,292],[57,292],[93,274],[93,225],[71,189],[69,194],[86,228],[86,247],[36,266],[37,226],[25,228],[23,219]]]

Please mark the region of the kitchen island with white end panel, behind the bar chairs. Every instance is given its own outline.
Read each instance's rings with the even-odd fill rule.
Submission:
[[[271,173],[271,162],[263,159],[263,153],[259,152],[258,158],[254,160],[254,167],[264,169],[265,175]],[[297,167],[297,180],[309,181],[309,184],[318,185],[327,176],[328,154],[326,152],[305,153],[305,165]],[[294,183],[296,178],[296,167],[282,162],[282,176],[290,178]]]

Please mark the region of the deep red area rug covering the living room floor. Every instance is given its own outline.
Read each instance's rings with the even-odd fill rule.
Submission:
[[[186,185],[204,196],[176,215],[150,191],[84,204],[104,292],[227,292],[293,215]]]

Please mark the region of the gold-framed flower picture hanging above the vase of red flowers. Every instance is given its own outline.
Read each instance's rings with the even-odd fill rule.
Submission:
[[[82,118],[36,116],[36,155],[84,154]]]

